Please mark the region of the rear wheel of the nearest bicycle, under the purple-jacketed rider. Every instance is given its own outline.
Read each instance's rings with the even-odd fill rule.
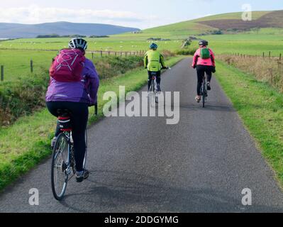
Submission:
[[[69,160],[68,140],[66,135],[61,133],[54,146],[51,165],[52,194],[57,200],[63,198],[67,189]]]

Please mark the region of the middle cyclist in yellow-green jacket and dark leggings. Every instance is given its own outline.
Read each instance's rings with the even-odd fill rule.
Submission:
[[[157,51],[158,46],[155,43],[150,45],[150,50],[145,53],[145,69],[148,69],[148,90],[150,89],[150,84],[152,80],[152,72],[156,73],[157,82],[157,92],[161,92],[160,82],[161,82],[161,70],[167,69],[164,63],[164,57],[160,52]]]

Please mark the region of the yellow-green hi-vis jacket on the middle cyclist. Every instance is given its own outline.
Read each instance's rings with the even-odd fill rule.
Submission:
[[[148,71],[158,72],[165,67],[164,57],[157,50],[148,50],[145,53],[145,68],[148,68]]]

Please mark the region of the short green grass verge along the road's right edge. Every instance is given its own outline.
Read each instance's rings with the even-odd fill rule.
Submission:
[[[283,94],[235,67],[217,63],[218,82],[283,186]]]

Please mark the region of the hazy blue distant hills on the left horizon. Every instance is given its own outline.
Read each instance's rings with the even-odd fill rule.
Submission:
[[[99,23],[40,23],[34,25],[19,23],[0,23],[0,38],[35,38],[38,35],[115,35],[132,31],[138,28],[126,28]]]

